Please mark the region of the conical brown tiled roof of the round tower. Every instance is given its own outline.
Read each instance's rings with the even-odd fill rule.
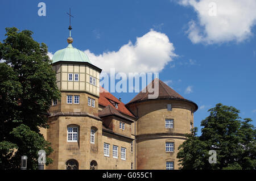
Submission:
[[[145,87],[145,89],[143,89],[141,92],[139,92],[139,94],[137,94],[127,104],[141,102],[144,100],[149,100],[148,95],[154,94],[154,92],[152,92],[151,89],[154,89],[153,87],[155,87],[155,83],[157,83],[157,82],[159,82],[159,84],[158,84],[159,85],[159,94],[154,99],[178,99],[178,100],[185,100],[185,101],[191,102],[190,100],[183,98],[183,96],[178,94],[175,90],[171,89],[171,87],[167,86],[166,83],[161,81],[159,78],[155,78],[150,84],[147,85],[147,87]],[[150,92],[148,92],[148,90],[150,90]],[[193,102],[191,102],[191,103],[193,103]],[[193,103],[193,104],[195,104],[195,103]],[[197,110],[197,105],[195,104],[195,106],[196,106],[196,110]]]

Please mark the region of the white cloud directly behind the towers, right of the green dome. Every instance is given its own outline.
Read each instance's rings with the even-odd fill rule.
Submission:
[[[142,37],[137,37],[135,44],[122,45],[117,51],[104,52],[96,55],[90,50],[85,50],[93,65],[105,72],[115,68],[115,72],[160,72],[164,66],[171,62],[177,55],[174,45],[164,33],[150,30]]]

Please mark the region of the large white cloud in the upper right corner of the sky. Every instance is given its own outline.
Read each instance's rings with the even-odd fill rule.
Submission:
[[[255,0],[177,0],[191,6],[197,21],[188,23],[188,37],[192,43],[240,43],[253,35],[256,24]],[[215,12],[216,14],[215,14]]]

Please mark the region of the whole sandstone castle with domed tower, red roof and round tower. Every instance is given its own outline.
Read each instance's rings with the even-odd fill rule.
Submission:
[[[197,105],[156,78],[124,104],[100,86],[101,69],[72,45],[52,58],[61,100],[49,109],[53,163],[46,169],[178,169],[178,146],[193,127]],[[148,88],[148,87],[146,87]]]

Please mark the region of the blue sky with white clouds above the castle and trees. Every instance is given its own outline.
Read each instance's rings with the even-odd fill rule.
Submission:
[[[46,3],[46,16],[38,15],[39,2]],[[216,3],[217,15],[205,15],[209,2]],[[217,103],[236,107],[241,110],[242,118],[250,117],[256,125],[256,5],[250,0],[239,3],[238,0],[1,1],[0,40],[5,39],[5,27],[31,30],[34,39],[46,43],[53,54],[67,47],[66,12],[70,7],[75,16],[73,46],[89,51],[89,58],[94,56],[95,61],[102,61],[103,68],[112,59],[121,64],[129,61],[120,54],[134,53],[139,57],[136,64],[145,65],[148,61],[150,68],[158,70],[162,81],[197,103],[196,127],[200,128],[201,120],[209,115],[207,110]],[[225,10],[226,7],[233,11]],[[155,51],[148,53],[138,48],[139,44],[145,48],[144,42],[152,39],[155,47],[150,48]],[[159,65],[161,61],[163,66]],[[133,66],[136,68],[128,66],[131,72]],[[127,103],[137,93],[113,94]]]

